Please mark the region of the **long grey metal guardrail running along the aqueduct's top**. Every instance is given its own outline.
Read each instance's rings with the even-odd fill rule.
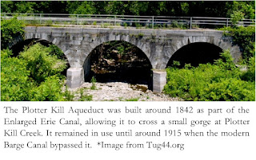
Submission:
[[[170,16],[133,16],[133,15],[109,15],[109,14],[8,14],[2,13],[3,19],[17,16],[26,23],[45,25],[120,25],[136,27],[202,27],[214,28],[214,26],[230,26],[230,18],[204,18],[204,17],[170,17]],[[237,25],[255,25],[254,19],[243,19]]]

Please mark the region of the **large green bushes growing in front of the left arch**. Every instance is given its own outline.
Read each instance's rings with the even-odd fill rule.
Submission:
[[[1,52],[1,100],[64,100],[63,60],[50,55],[48,48],[36,44],[10,57],[10,50]]]

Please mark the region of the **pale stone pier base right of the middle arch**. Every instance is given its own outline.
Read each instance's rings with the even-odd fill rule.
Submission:
[[[161,93],[166,85],[166,71],[153,70],[153,92]]]

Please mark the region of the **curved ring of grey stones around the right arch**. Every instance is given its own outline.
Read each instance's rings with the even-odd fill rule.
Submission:
[[[238,45],[233,45],[232,40],[229,38],[224,37],[211,37],[211,36],[193,36],[193,37],[183,37],[182,41],[176,41],[171,47],[170,54],[168,55],[169,60],[170,58],[182,47],[194,43],[208,43],[211,45],[215,45],[222,50],[230,49],[230,54],[234,58],[234,62],[238,62],[238,60],[242,57],[242,53]],[[168,62],[169,62],[168,60]],[[166,67],[167,64],[166,63]]]

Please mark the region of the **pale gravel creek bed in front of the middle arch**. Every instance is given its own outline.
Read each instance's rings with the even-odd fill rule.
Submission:
[[[96,90],[91,90],[91,83],[84,83],[80,88],[70,89],[74,93],[74,100],[80,99],[80,89],[83,88],[83,95],[92,95],[93,101],[180,101],[163,93],[153,93],[144,84],[127,84],[122,82],[95,83]]]

